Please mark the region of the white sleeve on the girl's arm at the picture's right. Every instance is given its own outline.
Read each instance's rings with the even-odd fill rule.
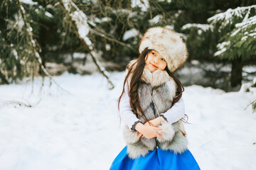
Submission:
[[[176,103],[174,103],[174,106],[160,115],[163,116],[164,119],[169,123],[176,123],[178,120],[183,118],[185,115],[185,105],[182,96]]]

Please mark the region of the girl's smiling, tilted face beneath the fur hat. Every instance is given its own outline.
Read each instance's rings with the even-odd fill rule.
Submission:
[[[156,50],[151,50],[151,52],[149,52],[146,57],[145,64],[146,68],[149,69],[150,72],[154,72],[157,69],[164,71],[167,65],[164,57],[159,55],[159,52]]]

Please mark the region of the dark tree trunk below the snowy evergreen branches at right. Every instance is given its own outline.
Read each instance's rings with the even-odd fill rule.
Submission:
[[[231,71],[231,87],[234,88],[242,84],[242,59],[238,57],[236,60],[232,61],[232,71]]]

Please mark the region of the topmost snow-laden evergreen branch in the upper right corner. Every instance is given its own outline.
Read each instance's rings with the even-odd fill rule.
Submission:
[[[215,23],[221,22],[220,28],[223,28],[223,27],[225,27],[229,24],[230,25],[233,24],[234,17],[236,17],[236,18],[243,18],[244,17],[243,21],[246,21],[249,14],[250,14],[251,8],[256,9],[256,5],[238,7],[238,8],[235,8],[235,9],[229,8],[227,11],[225,11],[223,13],[218,13],[217,15],[208,18],[207,21],[212,23],[213,25]]]

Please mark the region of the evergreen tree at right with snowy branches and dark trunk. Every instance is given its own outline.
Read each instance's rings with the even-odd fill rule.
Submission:
[[[232,62],[232,87],[241,85],[243,62],[256,56],[255,9],[256,5],[238,7],[208,18],[221,34],[218,51],[214,55]]]

